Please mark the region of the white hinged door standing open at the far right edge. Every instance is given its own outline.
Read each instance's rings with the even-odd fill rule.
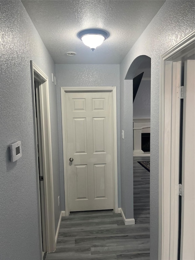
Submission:
[[[184,66],[181,258],[195,259],[195,61]],[[186,97],[185,97],[186,96]]]

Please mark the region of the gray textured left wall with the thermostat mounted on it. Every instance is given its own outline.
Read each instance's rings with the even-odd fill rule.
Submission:
[[[49,77],[57,228],[59,145],[55,65],[20,1],[0,1],[0,258],[39,260],[37,187],[30,60]],[[8,146],[21,140],[22,158],[9,161]]]

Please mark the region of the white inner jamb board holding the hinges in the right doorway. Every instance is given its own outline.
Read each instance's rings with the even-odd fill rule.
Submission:
[[[181,62],[165,62],[165,110],[163,172],[167,174],[163,183],[163,251],[160,259],[177,259],[179,196],[179,122],[180,99],[177,87],[181,83]],[[165,181],[166,180],[166,181]],[[169,217],[171,216],[171,217]]]

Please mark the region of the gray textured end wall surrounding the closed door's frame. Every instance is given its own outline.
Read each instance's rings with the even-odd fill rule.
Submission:
[[[64,209],[64,171],[62,151],[62,116],[60,87],[105,87],[116,86],[117,94],[117,132],[118,132],[118,193],[119,207],[121,205],[120,191],[120,122],[119,122],[119,65],[113,64],[56,64],[57,76],[57,99],[58,99],[58,129],[59,129],[59,151],[60,151],[60,183],[61,183],[61,205]]]

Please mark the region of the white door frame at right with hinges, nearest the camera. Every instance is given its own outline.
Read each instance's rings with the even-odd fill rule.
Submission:
[[[194,51],[195,30],[161,56],[159,127],[159,244],[158,259],[177,259],[179,110],[177,61]],[[174,62],[173,62],[174,61]],[[177,62],[177,63],[176,63]],[[175,75],[173,77],[173,75]]]

